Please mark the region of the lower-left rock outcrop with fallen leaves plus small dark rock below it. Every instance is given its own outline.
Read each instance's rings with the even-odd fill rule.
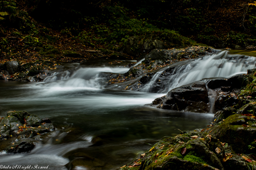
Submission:
[[[10,111],[6,117],[0,117],[0,139],[7,140],[13,136],[16,142],[4,148],[8,152],[29,152],[34,148],[31,140],[38,140],[41,135],[55,130],[48,118],[40,119],[26,111]]]

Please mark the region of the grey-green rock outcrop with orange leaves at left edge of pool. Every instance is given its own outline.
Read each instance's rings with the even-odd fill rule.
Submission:
[[[9,138],[11,135],[31,138],[54,129],[48,118],[41,120],[26,111],[8,112],[6,117],[0,118],[0,139]]]

